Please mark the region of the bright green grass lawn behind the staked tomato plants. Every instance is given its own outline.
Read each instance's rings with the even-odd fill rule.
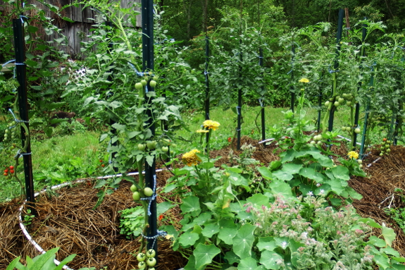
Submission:
[[[284,120],[283,111],[285,108],[266,107],[266,134],[270,134],[273,125],[282,125]],[[261,140],[261,108],[243,106],[242,107],[242,136],[247,135],[256,140]],[[323,114],[322,114],[323,115]],[[361,113],[361,119],[364,113]],[[218,121],[220,128],[213,133],[211,147],[220,149],[228,145],[228,138],[236,136],[237,114],[232,109],[211,109],[211,120]],[[323,117],[323,116],[322,116]],[[182,154],[193,148],[201,148],[200,135],[195,130],[201,128],[204,113],[199,111],[188,111],[183,113],[183,118],[189,130],[184,128],[178,130],[177,135],[180,140],[177,147],[172,149],[173,154]],[[306,119],[314,120],[318,118],[316,109],[306,109]],[[256,119],[256,121],[255,121]],[[334,129],[339,129],[349,122],[349,110],[339,109],[335,113]],[[363,123],[359,123],[363,126]],[[1,125],[1,123],[0,123]],[[56,128],[55,137],[46,140],[32,140],[32,168],[35,178],[35,190],[40,190],[46,185],[56,185],[75,178],[85,178],[88,176],[102,175],[100,159],[106,164],[108,153],[106,146],[99,144],[100,133],[92,132],[81,128],[77,123],[67,127],[67,124]],[[72,128],[73,127],[73,128]],[[64,130],[73,130],[72,134],[64,134]],[[342,135],[347,133],[341,132]],[[374,143],[379,143],[384,137],[384,133],[373,133]],[[8,166],[13,162],[13,157],[0,157],[0,165]],[[20,166],[22,167],[22,166]],[[20,168],[20,171],[23,171]],[[23,173],[19,174],[24,180]],[[9,180],[4,176],[0,177],[0,202],[10,200],[20,195],[20,188],[15,180]]]

